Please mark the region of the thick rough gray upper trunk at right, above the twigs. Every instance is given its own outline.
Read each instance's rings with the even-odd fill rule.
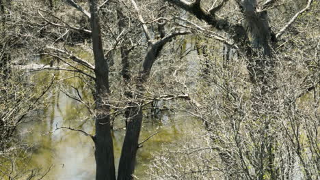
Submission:
[[[251,53],[247,54],[248,71],[252,82],[263,82],[264,85],[269,86],[268,81],[274,74],[275,65],[269,46],[271,29],[267,12],[257,12],[256,5],[256,0],[242,0],[240,5],[244,15],[242,25],[247,30],[246,33],[252,47]]]

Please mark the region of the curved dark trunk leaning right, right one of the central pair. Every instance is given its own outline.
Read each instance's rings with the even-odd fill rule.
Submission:
[[[132,2],[136,10],[138,11],[138,7],[135,4],[135,1]],[[118,15],[122,16],[122,14]],[[139,16],[139,20],[141,22],[144,22],[142,16]],[[162,50],[165,43],[170,42],[170,40],[172,40],[172,37],[175,37],[176,35],[183,35],[189,33],[186,31],[179,31],[176,33],[170,33],[165,36],[164,27],[162,26],[159,27],[159,33],[160,36],[163,38],[156,41],[150,39],[150,35],[148,33],[148,28],[146,27],[146,24],[142,24],[142,27],[148,39],[148,52],[146,53],[146,56],[144,58],[142,69],[139,71],[139,75],[135,80],[135,82],[137,83],[136,88],[139,91],[139,93],[143,93],[145,91],[143,87],[144,82],[146,82],[146,80],[148,79],[152,65],[155,63],[157,57],[159,57],[159,53]],[[122,58],[124,58],[124,61],[122,63],[128,63],[128,59],[126,59],[128,55],[129,52],[124,53],[124,55],[122,56]],[[124,64],[124,67],[128,66]],[[124,77],[124,79],[125,78],[126,77]],[[136,97],[139,98],[141,97],[141,95],[137,94]],[[118,168],[118,180],[133,179],[132,175],[135,170],[135,156],[137,154],[138,149],[139,134],[142,127],[142,118],[142,107],[138,106],[131,108],[129,113],[129,121],[126,125],[126,135],[124,136],[124,143],[122,146],[122,152]]]

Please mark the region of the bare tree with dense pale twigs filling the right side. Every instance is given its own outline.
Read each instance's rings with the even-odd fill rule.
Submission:
[[[279,1],[215,1],[221,3],[213,8],[209,1],[169,2],[217,29],[213,33],[226,33],[238,56],[224,63],[213,47],[209,55],[200,53],[201,61],[211,58],[211,73],[198,80],[190,102],[191,115],[208,130],[199,137],[204,144],[169,151],[181,157],[159,158],[152,179],[318,179],[319,146],[312,142],[319,127],[317,3],[307,1],[288,16]],[[199,21],[183,20],[204,29]],[[312,134],[308,140],[306,134]]]

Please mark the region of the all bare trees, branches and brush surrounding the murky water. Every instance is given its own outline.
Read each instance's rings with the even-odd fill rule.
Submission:
[[[133,179],[137,150],[157,134],[139,140],[143,121],[167,111],[195,118],[198,132],[155,153],[144,179],[320,178],[318,1],[0,6],[0,151],[12,162],[1,164],[4,179],[46,179],[46,171],[16,175],[9,167],[20,166],[13,160],[21,153],[12,151],[25,143],[19,127],[53,91],[83,104],[94,121],[94,134],[54,131],[92,139],[97,180]],[[119,123],[125,135],[116,168]]]

